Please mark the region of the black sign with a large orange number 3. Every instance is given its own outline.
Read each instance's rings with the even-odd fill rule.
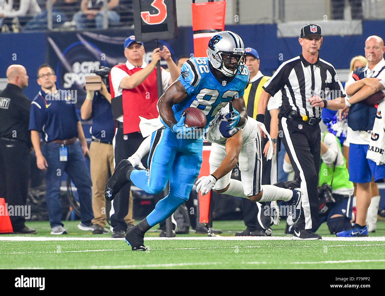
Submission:
[[[175,0],[134,0],[134,33],[137,40],[177,38]]]

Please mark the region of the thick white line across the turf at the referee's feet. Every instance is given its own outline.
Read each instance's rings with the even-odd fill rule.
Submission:
[[[145,237],[144,241],[291,241],[293,236],[199,236],[199,237]],[[65,237],[65,236],[0,236],[0,241],[122,241],[111,237]],[[323,237],[322,241],[385,241],[385,236],[369,237]]]

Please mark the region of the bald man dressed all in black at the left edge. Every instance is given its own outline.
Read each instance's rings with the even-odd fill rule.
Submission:
[[[16,209],[27,203],[30,177],[31,102],[22,92],[29,77],[22,65],[10,65],[7,78],[8,84],[0,92],[0,197],[14,209],[10,215],[13,233],[34,234],[35,229],[25,225],[25,217],[16,214]]]

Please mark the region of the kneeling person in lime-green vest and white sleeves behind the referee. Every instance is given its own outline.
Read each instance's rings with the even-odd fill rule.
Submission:
[[[286,173],[293,171],[287,154],[283,170]],[[349,172],[340,141],[335,135],[325,132],[321,141],[321,166],[318,181],[320,222],[315,227],[315,231],[323,222],[326,222],[331,234],[352,226],[353,191],[354,186],[349,181]],[[294,227],[289,229],[289,232],[293,230]]]

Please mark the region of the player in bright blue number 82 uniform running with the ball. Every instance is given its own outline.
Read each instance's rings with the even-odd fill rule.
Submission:
[[[243,100],[249,82],[244,67],[246,55],[241,37],[230,31],[219,32],[208,44],[208,57],[191,58],[181,75],[158,102],[163,127],[152,133],[148,158],[149,171],[136,170],[128,160],[116,167],[105,187],[105,198],[112,200],[130,180],[144,191],[156,194],[170,183],[169,194],[157,202],[154,211],[126,234],[133,251],[145,251],[144,234],[165,220],[187,201],[202,162],[203,138],[186,127],[181,116],[187,107],[197,107],[206,115],[207,125],[218,111],[232,101],[231,127],[243,127],[247,112]]]

